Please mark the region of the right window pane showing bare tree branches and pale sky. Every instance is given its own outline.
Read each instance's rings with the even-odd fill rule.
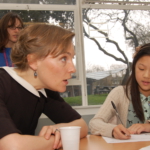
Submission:
[[[84,8],[82,12],[88,104],[91,97],[93,105],[102,104],[114,87],[125,84],[135,47],[149,42],[150,11]]]

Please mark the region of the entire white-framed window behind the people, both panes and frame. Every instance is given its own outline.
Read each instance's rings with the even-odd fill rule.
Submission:
[[[111,89],[129,76],[135,47],[149,42],[150,22],[145,18],[149,18],[150,0],[0,0],[0,3],[0,18],[12,10],[20,14],[26,25],[53,23],[75,32],[77,72],[67,90],[60,93],[74,108],[99,108]]]

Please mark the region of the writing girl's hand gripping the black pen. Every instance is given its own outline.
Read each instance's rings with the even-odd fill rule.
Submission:
[[[113,131],[112,135],[115,139],[127,140],[130,139],[130,132],[122,125],[117,125]]]

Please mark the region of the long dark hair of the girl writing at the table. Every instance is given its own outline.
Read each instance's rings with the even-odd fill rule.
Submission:
[[[143,112],[141,99],[140,99],[139,85],[136,81],[136,76],[135,76],[135,66],[137,61],[143,56],[150,56],[150,43],[141,46],[139,50],[136,52],[136,54],[134,55],[133,63],[132,63],[132,73],[127,81],[126,89],[125,89],[128,99],[132,101],[136,116],[142,122],[145,121],[145,118],[144,118],[144,112]]]

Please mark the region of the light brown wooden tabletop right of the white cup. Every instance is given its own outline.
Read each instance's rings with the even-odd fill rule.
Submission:
[[[150,141],[129,143],[106,143],[101,136],[88,135],[80,140],[79,150],[139,150],[149,146]]]

